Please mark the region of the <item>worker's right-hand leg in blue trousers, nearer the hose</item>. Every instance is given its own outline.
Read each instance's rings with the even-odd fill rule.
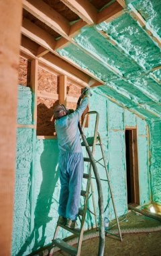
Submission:
[[[72,153],[69,161],[69,196],[66,206],[66,218],[76,220],[80,203],[80,191],[83,180],[83,154]]]

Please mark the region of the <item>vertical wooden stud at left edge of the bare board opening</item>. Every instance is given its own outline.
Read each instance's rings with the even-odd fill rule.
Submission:
[[[33,123],[37,125],[37,98],[38,98],[38,59],[33,59],[31,62],[31,88],[34,93],[33,100]]]

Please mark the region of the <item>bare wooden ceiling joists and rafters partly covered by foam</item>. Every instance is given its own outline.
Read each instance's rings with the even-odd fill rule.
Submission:
[[[90,84],[91,87],[103,86],[105,84],[105,82],[101,81],[101,79],[98,79],[98,77],[93,75],[93,73],[87,69],[82,69],[68,57],[63,57],[57,53],[57,49],[62,49],[70,43],[74,44],[86,55],[89,55],[89,57],[92,57],[94,60],[101,63],[101,65],[104,65],[107,69],[109,69],[109,71],[117,75],[119,79],[123,79],[125,82],[129,83],[117,69],[108,63],[104,63],[103,59],[96,57],[92,53],[89,53],[89,51],[83,49],[83,47],[74,41],[74,36],[76,36],[80,32],[80,29],[85,26],[99,24],[100,22],[108,23],[115,18],[118,18],[120,15],[123,15],[123,13],[129,13],[131,18],[136,20],[140,26],[142,26],[146,34],[153,40],[154,44],[161,46],[160,37],[153,32],[152,28],[148,26],[144,18],[142,18],[142,15],[138,13],[132,4],[129,4],[129,9],[127,9],[127,5],[125,4],[124,0],[109,1],[109,3],[105,5],[105,7],[103,7],[103,9],[100,11],[98,11],[94,5],[92,5],[87,0],[60,1],[62,1],[64,5],[69,7],[74,13],[76,13],[76,15],[80,17],[78,22],[70,25],[66,18],[64,18],[60,13],[58,13],[58,11],[52,9],[50,5],[46,4],[42,0],[22,1],[23,9],[25,9],[25,11],[28,11],[40,22],[46,24],[52,30],[60,34],[61,38],[55,40],[51,34],[28,20],[28,18],[23,18],[21,26],[21,34],[23,36],[20,50],[21,54],[28,56],[28,58],[30,57],[30,59],[38,59],[39,65],[44,65],[45,67],[48,66],[48,68],[58,71],[61,75],[66,75],[68,79],[71,79],[74,81],[74,83],[77,83],[81,86],[89,86]],[[111,36],[103,31],[97,30],[97,32],[105,36],[105,38],[107,38],[107,40],[113,44],[113,46],[115,46],[118,51],[123,53],[123,55],[135,62],[133,57],[127,55],[127,53],[121,49],[118,42],[113,40]],[[138,62],[136,63],[140,65]],[[157,69],[161,69],[161,66],[154,67],[150,70],[142,67],[143,73],[141,73],[140,76],[148,74]],[[157,84],[160,84],[160,81],[153,73],[150,73],[150,76]],[[130,84],[133,86],[131,82]],[[146,94],[146,92],[144,92],[144,94]],[[149,96],[148,94],[146,95]],[[155,101],[155,104],[160,105],[157,101]],[[138,104],[138,106],[145,110],[144,104]],[[146,109],[146,111],[148,111],[151,115],[159,117],[157,114],[148,109]],[[136,114],[138,115],[138,113]]]

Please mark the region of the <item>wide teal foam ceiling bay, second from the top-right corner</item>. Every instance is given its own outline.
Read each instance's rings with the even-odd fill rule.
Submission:
[[[129,14],[125,13],[113,22],[103,22],[97,29],[109,34],[142,67],[152,69],[161,64],[159,47]]]

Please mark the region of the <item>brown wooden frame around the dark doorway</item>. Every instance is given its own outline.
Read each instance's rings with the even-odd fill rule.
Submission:
[[[129,131],[129,175],[131,183],[131,202],[140,205],[139,166],[138,166],[138,134],[137,128],[125,127]],[[127,168],[126,168],[127,176]],[[128,187],[128,185],[127,185]]]

